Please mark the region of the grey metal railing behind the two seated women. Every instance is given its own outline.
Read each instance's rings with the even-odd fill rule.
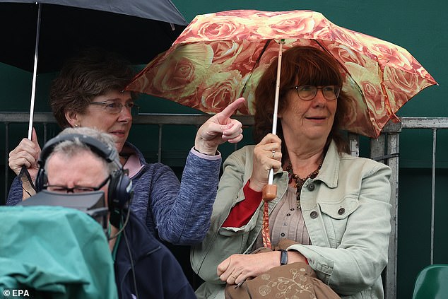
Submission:
[[[163,126],[173,125],[194,125],[201,126],[209,115],[181,115],[181,114],[141,114],[134,117],[133,124],[158,126],[158,160],[160,162],[162,153]],[[21,112],[0,112],[0,124],[5,125],[5,152],[9,148],[9,125],[13,123],[28,123],[29,114]],[[250,116],[236,117],[244,126],[252,126],[253,118]],[[40,112],[34,115],[35,124],[43,124],[44,139],[47,136],[47,125],[54,124],[55,120],[51,113]],[[370,140],[370,157],[389,165],[392,170],[391,175],[391,235],[389,243],[389,264],[384,271],[384,292],[387,299],[396,298],[396,274],[397,274],[397,242],[398,242],[398,206],[399,206],[399,135],[402,129],[432,129],[432,209],[431,209],[431,264],[433,263],[434,246],[434,209],[435,209],[435,160],[437,130],[448,129],[448,118],[427,118],[427,117],[401,117],[400,123],[389,122],[383,129],[378,139]],[[350,148],[353,155],[358,155],[358,136],[350,135]],[[237,146],[235,146],[237,148]],[[5,160],[5,193],[8,189],[8,156]],[[6,194],[5,194],[6,198]]]

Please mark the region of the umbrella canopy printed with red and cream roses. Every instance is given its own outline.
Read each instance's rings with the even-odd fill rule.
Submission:
[[[280,43],[317,47],[338,61],[352,107],[345,129],[365,136],[379,136],[413,95],[436,84],[406,49],[341,28],[321,13],[239,10],[196,16],[128,89],[209,113],[243,96],[247,107],[239,112],[251,115],[254,90]]]

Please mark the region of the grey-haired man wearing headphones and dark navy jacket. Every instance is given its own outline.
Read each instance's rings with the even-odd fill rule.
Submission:
[[[132,182],[110,134],[64,129],[42,148],[38,164],[37,192],[105,193],[119,298],[196,298],[170,250],[129,209]]]

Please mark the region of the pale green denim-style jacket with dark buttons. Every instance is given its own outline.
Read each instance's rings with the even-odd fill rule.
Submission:
[[[244,200],[242,187],[252,173],[254,146],[229,156],[213,205],[211,228],[204,242],[191,249],[191,266],[204,281],[198,298],[224,298],[225,284],[216,274],[231,254],[248,254],[261,232],[263,204],[247,225],[221,228],[230,209]],[[319,175],[301,191],[302,213],[312,245],[293,245],[307,257],[319,279],[342,298],[384,298],[381,273],[389,246],[391,170],[387,165],[348,154],[339,156],[329,146]],[[288,188],[288,173],[276,172],[277,197],[269,213]]]

